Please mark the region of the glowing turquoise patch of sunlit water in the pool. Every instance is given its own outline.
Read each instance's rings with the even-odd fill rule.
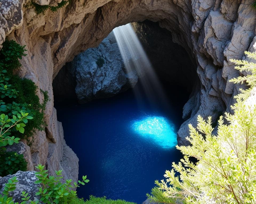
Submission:
[[[162,148],[173,148],[177,145],[177,131],[174,124],[164,117],[147,117],[136,121],[133,129],[145,139],[151,139]]]

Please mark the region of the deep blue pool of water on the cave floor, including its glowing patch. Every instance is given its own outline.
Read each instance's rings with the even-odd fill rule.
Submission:
[[[154,181],[181,158],[174,145],[184,93],[171,90],[168,108],[152,105],[143,95],[138,105],[132,89],[87,104],[55,105],[67,145],[79,158],[79,179],[87,175],[90,180],[78,188],[78,196],[142,203]]]

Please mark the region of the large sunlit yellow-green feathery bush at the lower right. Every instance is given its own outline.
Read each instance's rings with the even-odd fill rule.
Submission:
[[[256,60],[256,53],[245,52]],[[231,60],[239,71],[252,75],[232,79],[234,83],[246,80],[250,86],[240,90],[234,114],[225,113],[218,121],[217,136],[212,135],[211,117],[205,121],[198,116],[195,129],[189,125],[191,146],[177,146],[184,158],[173,169],[165,172],[166,181],[155,181],[152,201],[161,203],[256,203],[256,106],[244,101],[256,87],[256,64],[245,60]],[[241,66],[241,67],[240,67]],[[195,158],[197,162],[191,162]],[[179,176],[177,175],[179,174]]]

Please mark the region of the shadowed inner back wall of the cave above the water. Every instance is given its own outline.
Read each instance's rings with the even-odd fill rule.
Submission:
[[[134,22],[131,25],[158,78],[172,83],[170,86],[178,83],[180,88],[184,87],[191,92],[199,82],[196,63],[190,60],[182,46],[172,41],[170,32],[151,21]],[[134,58],[132,60],[129,49],[122,49],[126,53],[126,60],[132,62]],[[141,57],[137,53],[137,58]],[[102,66],[97,65],[99,59],[103,60]],[[116,39],[111,32],[98,47],[87,49],[62,67],[53,80],[54,101],[59,103],[77,99],[79,103],[86,103],[92,99],[110,97],[134,87],[139,77],[148,77],[148,67],[141,67],[140,64],[138,74],[134,63],[129,66],[132,69],[129,68],[131,71],[127,73]],[[182,80],[179,76],[182,76]]]

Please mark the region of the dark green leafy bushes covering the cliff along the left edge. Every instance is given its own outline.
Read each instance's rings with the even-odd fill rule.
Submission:
[[[0,175],[26,171],[23,155],[6,152],[4,146],[18,143],[20,138],[30,138],[35,130],[44,130],[45,106],[49,97],[41,91],[44,101],[40,104],[38,87],[29,79],[13,75],[13,70],[21,66],[19,59],[25,54],[25,46],[6,40],[0,50]],[[26,129],[24,128],[26,126]]]

